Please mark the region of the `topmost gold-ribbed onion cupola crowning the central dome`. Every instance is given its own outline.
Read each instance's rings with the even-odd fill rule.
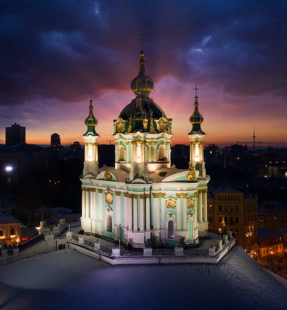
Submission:
[[[149,95],[154,89],[153,80],[145,72],[145,53],[140,52],[139,72],[138,75],[131,81],[130,88],[135,94]]]

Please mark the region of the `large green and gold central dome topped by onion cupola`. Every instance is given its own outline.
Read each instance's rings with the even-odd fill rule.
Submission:
[[[171,133],[172,120],[162,108],[149,98],[154,89],[153,80],[145,72],[144,52],[140,52],[138,75],[131,81],[130,88],[136,97],[126,105],[115,120],[115,134],[130,132]]]

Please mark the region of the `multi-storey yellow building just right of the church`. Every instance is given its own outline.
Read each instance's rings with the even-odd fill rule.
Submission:
[[[257,250],[258,198],[228,186],[208,194],[208,228],[219,234],[232,231],[233,238],[247,253]]]

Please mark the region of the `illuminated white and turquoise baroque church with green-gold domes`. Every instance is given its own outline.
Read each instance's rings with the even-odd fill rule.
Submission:
[[[172,119],[149,97],[154,82],[145,72],[144,55],[141,51],[139,73],[130,84],[135,98],[114,120],[115,167],[99,168],[98,121],[90,100],[80,176],[81,226],[85,234],[137,248],[196,245],[199,237],[208,235],[210,179],[205,170],[198,97],[187,133],[189,168],[176,169],[171,164]]]

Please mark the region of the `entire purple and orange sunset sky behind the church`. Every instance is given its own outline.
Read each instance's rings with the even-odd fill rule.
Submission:
[[[86,132],[90,94],[100,144],[134,94],[142,38],[150,98],[189,144],[197,85],[205,146],[287,147],[287,0],[10,0],[0,10],[0,144],[62,145]]]

